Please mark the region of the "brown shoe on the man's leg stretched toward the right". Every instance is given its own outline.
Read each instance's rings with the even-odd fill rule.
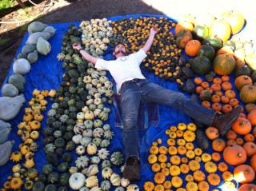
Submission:
[[[219,133],[224,136],[226,132],[231,129],[232,123],[237,120],[241,109],[241,106],[238,106],[235,107],[230,113],[217,114],[216,117],[214,117],[212,126],[216,127]]]

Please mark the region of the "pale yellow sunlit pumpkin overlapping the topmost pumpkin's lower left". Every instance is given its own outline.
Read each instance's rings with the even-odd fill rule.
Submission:
[[[209,27],[209,36],[218,36],[222,42],[230,39],[231,27],[230,23],[223,18],[218,18],[212,22]]]

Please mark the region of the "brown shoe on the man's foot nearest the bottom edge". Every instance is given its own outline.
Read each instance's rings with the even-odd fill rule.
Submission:
[[[141,179],[140,161],[138,157],[127,158],[125,169],[122,171],[122,177],[129,181],[139,181]]]

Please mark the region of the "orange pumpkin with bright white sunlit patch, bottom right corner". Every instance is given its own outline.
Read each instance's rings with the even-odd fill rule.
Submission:
[[[254,169],[250,165],[238,165],[234,168],[234,179],[241,184],[254,181]]]

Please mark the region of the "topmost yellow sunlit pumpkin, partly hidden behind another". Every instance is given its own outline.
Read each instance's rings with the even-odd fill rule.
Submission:
[[[231,34],[240,32],[245,24],[245,18],[238,10],[226,10],[221,17],[230,23]]]

